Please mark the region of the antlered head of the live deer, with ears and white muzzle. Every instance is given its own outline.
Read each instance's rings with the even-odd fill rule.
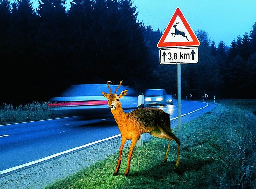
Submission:
[[[120,100],[123,96],[125,96],[125,95],[127,94],[128,90],[122,91],[119,95],[116,94],[117,89],[120,87],[121,83],[123,82],[123,81],[120,81],[118,87],[117,87],[116,90],[115,90],[115,93],[112,94],[112,91],[111,91],[111,88],[110,88],[108,82],[111,82],[111,81],[108,81],[108,80],[107,80],[107,86],[108,86],[108,88],[109,88],[110,94],[107,94],[107,93],[105,93],[105,92],[102,92],[102,94],[103,94],[104,97],[107,98],[109,108],[110,108],[111,110],[115,110],[116,108],[120,108],[120,107],[121,107],[121,103],[120,103],[119,100]]]

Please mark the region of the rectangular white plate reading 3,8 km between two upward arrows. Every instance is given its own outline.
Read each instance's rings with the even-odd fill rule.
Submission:
[[[188,64],[198,62],[197,47],[159,49],[160,64]]]

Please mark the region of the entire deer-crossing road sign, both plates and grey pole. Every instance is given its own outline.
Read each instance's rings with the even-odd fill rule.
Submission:
[[[197,63],[200,41],[191,29],[188,21],[179,8],[176,8],[173,16],[161,36],[157,47],[159,49],[159,63],[177,64],[178,70],[178,137],[181,138],[181,64]],[[175,96],[175,94],[173,94]],[[191,96],[192,97],[192,96]]]

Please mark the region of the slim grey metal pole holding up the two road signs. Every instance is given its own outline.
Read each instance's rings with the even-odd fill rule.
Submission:
[[[180,150],[182,149],[182,134],[181,134],[181,64],[178,67],[178,138],[180,139]]]

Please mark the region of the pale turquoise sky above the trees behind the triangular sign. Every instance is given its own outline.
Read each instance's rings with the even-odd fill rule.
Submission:
[[[256,0],[134,0],[139,21],[164,31],[179,7],[194,32],[206,31],[216,46],[250,33],[256,22]]]

